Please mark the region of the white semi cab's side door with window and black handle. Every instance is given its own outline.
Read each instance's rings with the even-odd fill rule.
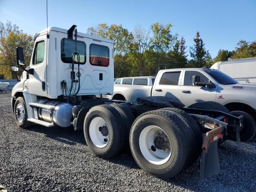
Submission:
[[[34,69],[34,74],[29,75],[28,92],[38,96],[47,96],[46,83],[46,52],[47,38],[46,35],[36,38],[30,68]]]

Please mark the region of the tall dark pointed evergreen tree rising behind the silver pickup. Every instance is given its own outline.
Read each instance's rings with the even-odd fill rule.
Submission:
[[[189,66],[195,68],[201,68],[203,66],[209,66],[212,64],[212,58],[208,50],[204,47],[204,42],[200,38],[199,32],[196,32],[196,37],[194,38],[194,46],[190,47],[190,57],[192,58],[189,62]]]

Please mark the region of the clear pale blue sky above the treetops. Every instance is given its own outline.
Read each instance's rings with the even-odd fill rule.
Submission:
[[[0,21],[7,20],[28,34],[45,29],[46,0],[0,0]],[[108,23],[133,31],[138,24],[149,29],[154,22],[172,24],[188,47],[199,31],[214,58],[219,49],[233,50],[241,39],[256,40],[256,0],[48,0],[48,26],[76,24],[86,32]]]

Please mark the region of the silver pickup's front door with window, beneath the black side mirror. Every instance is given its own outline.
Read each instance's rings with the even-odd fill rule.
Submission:
[[[200,76],[200,82],[211,82],[210,79],[200,71],[185,70],[182,78],[182,85],[180,86],[180,101],[186,107],[198,102],[216,101],[218,85],[214,84],[215,88],[193,86],[193,76]]]

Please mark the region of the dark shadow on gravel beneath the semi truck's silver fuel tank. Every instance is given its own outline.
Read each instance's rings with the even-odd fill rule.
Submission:
[[[63,128],[59,126],[45,127],[41,125],[34,125],[28,130],[42,133],[48,138],[63,142],[68,145],[86,144],[83,131],[74,131],[74,128],[72,126]]]

